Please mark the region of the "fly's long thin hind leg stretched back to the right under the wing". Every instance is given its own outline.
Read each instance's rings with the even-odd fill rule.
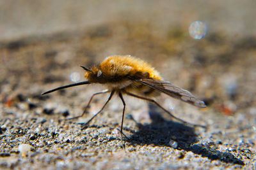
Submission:
[[[199,127],[204,127],[204,128],[205,128],[204,125],[191,124],[191,123],[186,122],[186,121],[184,121],[184,120],[182,120],[182,119],[180,119],[180,118],[175,117],[172,113],[170,113],[170,111],[164,109],[163,106],[161,106],[159,103],[157,103],[156,101],[154,101],[154,99],[150,99],[150,98],[147,98],[147,97],[138,96],[138,95],[136,95],[136,94],[132,94],[132,93],[126,92],[126,91],[124,91],[124,92],[125,92],[125,94],[127,94],[127,95],[129,95],[129,96],[137,97],[137,98],[139,98],[139,99],[143,99],[143,100],[145,100],[145,101],[149,101],[149,102],[151,102],[151,103],[156,104],[156,106],[158,106],[159,108],[161,108],[161,110],[165,111],[166,113],[168,113],[168,115],[170,115],[171,117],[175,118],[176,120],[179,120],[180,122],[182,122],[182,123],[184,123],[184,124],[192,125],[192,126],[194,126],[194,127],[199,126]]]

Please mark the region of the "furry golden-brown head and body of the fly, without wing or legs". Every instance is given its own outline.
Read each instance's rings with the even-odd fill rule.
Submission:
[[[99,66],[92,67],[84,77],[92,83],[102,83],[109,90],[132,90],[136,94],[157,96],[155,90],[136,81],[141,78],[162,80],[159,73],[147,62],[131,56],[107,57]],[[153,94],[154,92],[154,94]]]

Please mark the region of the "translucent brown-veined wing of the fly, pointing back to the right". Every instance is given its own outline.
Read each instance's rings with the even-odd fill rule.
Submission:
[[[140,82],[143,85],[147,85],[152,89],[156,89],[159,92],[163,92],[168,96],[174,97],[175,99],[180,99],[181,101],[184,101],[186,103],[193,104],[200,108],[206,107],[204,101],[200,101],[199,99],[197,99],[195,96],[193,96],[193,94],[191,94],[191,92],[181,89],[180,87],[177,87],[168,81],[156,79],[140,79],[134,81]]]

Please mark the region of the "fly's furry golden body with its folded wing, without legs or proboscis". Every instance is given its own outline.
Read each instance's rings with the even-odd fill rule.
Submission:
[[[107,57],[99,66],[87,71],[84,77],[90,83],[102,83],[109,90],[116,92],[135,92],[146,97],[158,96],[160,92],[198,107],[205,107],[204,102],[196,99],[188,90],[163,81],[160,74],[147,62],[125,56]]]

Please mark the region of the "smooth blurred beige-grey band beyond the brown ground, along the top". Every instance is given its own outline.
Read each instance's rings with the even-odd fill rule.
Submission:
[[[255,34],[255,3],[249,1],[1,1],[1,40],[77,31],[111,22],[150,22],[163,32],[195,20],[209,32],[228,36]]]

